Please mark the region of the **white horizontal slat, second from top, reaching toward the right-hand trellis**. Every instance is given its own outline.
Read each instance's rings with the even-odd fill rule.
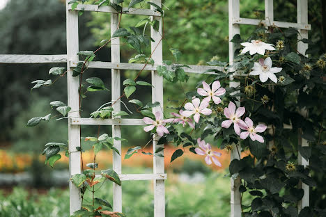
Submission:
[[[79,61],[70,61],[72,67],[76,67]],[[94,61],[88,64],[89,68],[96,69],[116,69],[116,70],[142,70],[145,64],[140,63],[110,63],[110,62],[98,62]],[[183,70],[187,73],[203,73],[207,70],[220,70],[224,71],[224,67],[210,66],[210,65],[189,65],[183,67]],[[156,70],[156,65],[146,65],[144,70]],[[215,74],[215,72],[206,72],[205,74]]]

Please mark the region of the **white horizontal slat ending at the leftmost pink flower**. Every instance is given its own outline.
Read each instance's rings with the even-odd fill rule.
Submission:
[[[100,119],[100,118],[70,118],[72,125],[127,125],[143,126],[146,125],[143,119]]]

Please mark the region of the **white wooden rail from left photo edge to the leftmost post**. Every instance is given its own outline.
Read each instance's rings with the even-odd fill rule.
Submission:
[[[67,63],[67,55],[0,54],[0,63]]]

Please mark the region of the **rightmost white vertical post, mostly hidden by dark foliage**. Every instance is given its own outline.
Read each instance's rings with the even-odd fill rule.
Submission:
[[[297,23],[301,24],[308,24],[308,1],[307,0],[297,0]],[[298,36],[298,40],[301,40],[303,38],[308,38],[308,31],[307,30],[299,30],[300,35]],[[308,49],[308,44],[305,44],[304,42],[297,42],[297,51],[300,52],[300,54],[305,55],[306,49]],[[307,111],[304,109],[302,111],[302,115],[306,117]],[[299,131],[298,136],[298,145],[301,146],[309,146],[309,143],[307,140],[301,137],[301,130]],[[303,165],[304,167],[309,165],[309,161],[306,161],[301,154],[298,154],[298,163],[300,165]],[[309,186],[300,183],[301,188],[304,190],[304,196],[302,200],[298,202],[298,209],[299,211],[303,209],[304,207],[309,207]]]

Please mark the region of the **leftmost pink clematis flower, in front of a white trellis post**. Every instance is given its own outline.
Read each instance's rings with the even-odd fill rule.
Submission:
[[[169,130],[166,129],[166,127],[164,127],[164,125],[166,123],[173,122],[173,118],[162,120],[161,116],[162,115],[161,115],[160,111],[157,111],[155,113],[156,120],[150,119],[148,117],[143,118],[143,122],[145,122],[146,124],[150,124],[149,126],[144,127],[143,130],[148,132],[148,131],[151,131],[152,129],[154,129],[154,127],[156,127],[156,132],[159,136],[163,136],[164,134],[169,134],[170,133]]]

